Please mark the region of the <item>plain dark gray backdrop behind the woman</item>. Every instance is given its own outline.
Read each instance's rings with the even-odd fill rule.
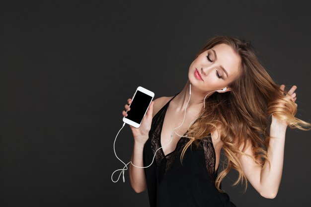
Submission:
[[[217,3],[216,3],[217,2]],[[278,84],[296,84],[297,117],[311,121],[311,14],[307,1],[1,1],[0,206],[146,207],[111,181],[113,141],[138,86],[172,96],[214,35],[251,41]],[[251,186],[223,189],[237,207],[311,206],[310,132],[287,130],[275,199]],[[116,149],[130,160],[128,125]],[[182,181],[181,181],[182,182]]]

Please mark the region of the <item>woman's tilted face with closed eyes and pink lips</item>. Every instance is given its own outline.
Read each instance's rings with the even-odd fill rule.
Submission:
[[[221,90],[239,74],[241,58],[227,44],[218,44],[201,53],[190,65],[188,78],[192,87],[202,91]],[[197,76],[196,71],[199,73]]]

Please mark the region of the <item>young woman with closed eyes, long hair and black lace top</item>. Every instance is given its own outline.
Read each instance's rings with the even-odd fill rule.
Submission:
[[[191,63],[184,88],[152,101],[141,127],[130,126],[132,163],[148,166],[156,154],[148,168],[130,165],[133,189],[147,188],[151,207],[234,207],[221,190],[233,168],[239,173],[234,185],[245,180],[246,190],[249,181],[261,196],[275,198],[287,126],[311,127],[295,117],[296,88],[277,85],[250,43],[211,38]],[[221,149],[226,160],[218,174]]]

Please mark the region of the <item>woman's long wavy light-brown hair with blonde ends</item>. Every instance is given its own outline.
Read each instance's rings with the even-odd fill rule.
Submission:
[[[205,110],[202,107],[200,112],[202,115],[189,128],[187,136],[189,141],[182,150],[180,160],[182,162],[186,149],[192,143],[198,145],[202,138],[208,137],[215,130],[218,131],[217,128],[221,125],[221,134],[218,134],[223,142],[225,160],[223,170],[215,180],[215,186],[220,192],[225,192],[220,189],[221,181],[233,168],[238,172],[238,178],[233,186],[245,180],[246,191],[247,179],[238,159],[241,155],[251,157],[242,152],[246,147],[244,144],[246,140],[250,141],[255,155],[255,158],[251,158],[265,167],[266,162],[270,163],[267,149],[271,138],[268,132],[271,115],[286,121],[290,128],[310,130],[311,124],[295,117],[297,105],[293,99],[288,101],[284,95],[288,94],[288,90],[285,89],[283,92],[280,85],[272,80],[257,59],[249,41],[229,36],[215,36],[207,41],[194,59],[221,43],[231,46],[241,57],[239,76],[230,83],[231,91],[213,93],[205,99]],[[241,145],[242,151],[239,150]]]

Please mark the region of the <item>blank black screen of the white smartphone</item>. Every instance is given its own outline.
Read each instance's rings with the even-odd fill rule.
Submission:
[[[152,98],[152,96],[149,96],[146,93],[143,93],[139,90],[136,91],[130,106],[131,110],[127,112],[128,116],[126,118],[140,124]]]

